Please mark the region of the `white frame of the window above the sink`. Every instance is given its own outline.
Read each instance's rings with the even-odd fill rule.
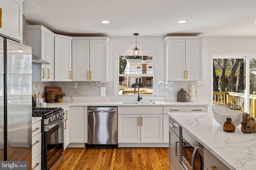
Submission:
[[[114,96],[118,96],[118,97],[121,97],[121,96],[124,96],[124,97],[127,97],[127,96],[137,96],[137,95],[120,95],[119,94],[119,76],[125,76],[125,75],[128,75],[128,76],[138,76],[138,74],[119,74],[119,56],[132,56],[133,55],[133,51],[132,50],[114,50],[114,53],[115,53],[115,66],[116,66],[116,78],[114,78]],[[154,70],[153,71],[153,74],[147,74],[147,75],[144,75],[145,77],[148,77],[148,76],[152,76],[153,77],[153,94],[152,95],[146,95],[146,96],[156,96],[157,94],[157,87],[156,87],[156,75],[157,75],[157,70],[155,69],[156,68],[156,65],[157,65],[157,57],[158,57],[158,50],[141,50],[140,51],[140,56],[153,56],[153,67],[152,69]]]

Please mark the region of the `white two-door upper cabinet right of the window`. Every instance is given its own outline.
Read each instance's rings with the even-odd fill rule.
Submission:
[[[166,37],[166,80],[202,80],[202,38]]]

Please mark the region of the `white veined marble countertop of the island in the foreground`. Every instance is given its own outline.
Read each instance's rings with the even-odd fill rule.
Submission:
[[[256,169],[256,133],[225,132],[212,113],[168,113],[206,149],[232,170]]]

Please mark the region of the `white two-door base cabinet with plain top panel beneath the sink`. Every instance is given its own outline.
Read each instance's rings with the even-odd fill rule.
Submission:
[[[163,115],[161,106],[118,107],[118,143],[162,142]]]

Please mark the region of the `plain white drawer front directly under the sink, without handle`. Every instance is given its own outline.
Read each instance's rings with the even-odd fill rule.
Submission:
[[[162,106],[119,106],[118,114],[163,114]]]

